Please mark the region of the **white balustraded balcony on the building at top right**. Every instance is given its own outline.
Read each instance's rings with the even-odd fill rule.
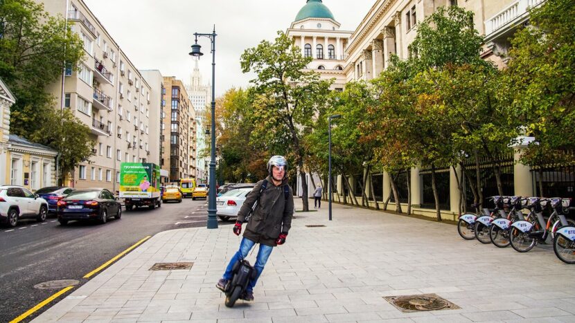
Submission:
[[[517,25],[523,24],[529,17],[529,8],[540,6],[545,0],[515,0],[497,15],[484,21],[486,42],[493,41]]]

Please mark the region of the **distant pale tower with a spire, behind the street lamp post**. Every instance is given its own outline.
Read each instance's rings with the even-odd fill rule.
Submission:
[[[206,150],[207,140],[206,131],[206,109],[211,104],[211,84],[208,82],[204,84],[200,68],[197,66],[199,59],[194,57],[194,68],[190,77],[190,84],[186,86],[188,91],[188,99],[194,107],[194,120],[193,120],[193,136],[195,145],[193,147],[193,171],[198,183],[209,183],[208,166],[209,158],[202,155]],[[192,167],[192,165],[190,165]]]

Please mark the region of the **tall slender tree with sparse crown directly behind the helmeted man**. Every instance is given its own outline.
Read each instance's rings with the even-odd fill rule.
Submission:
[[[254,72],[250,98],[254,107],[252,140],[265,142],[273,154],[285,154],[306,178],[306,145],[304,131],[312,127],[315,116],[326,109],[330,82],[319,80],[319,74],[304,71],[311,57],[303,57],[294,40],[279,31],[272,44],[261,41],[242,54],[244,73]],[[303,210],[308,211],[308,185],[301,181]]]

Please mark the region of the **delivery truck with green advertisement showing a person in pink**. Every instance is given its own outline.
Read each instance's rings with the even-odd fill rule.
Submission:
[[[160,167],[153,163],[121,163],[120,199],[126,211],[148,206],[150,210],[161,207]]]

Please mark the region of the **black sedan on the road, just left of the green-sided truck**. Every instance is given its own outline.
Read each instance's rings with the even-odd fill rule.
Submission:
[[[58,201],[58,222],[67,225],[71,220],[96,220],[106,223],[114,216],[120,219],[122,206],[114,194],[103,188],[76,190]]]

